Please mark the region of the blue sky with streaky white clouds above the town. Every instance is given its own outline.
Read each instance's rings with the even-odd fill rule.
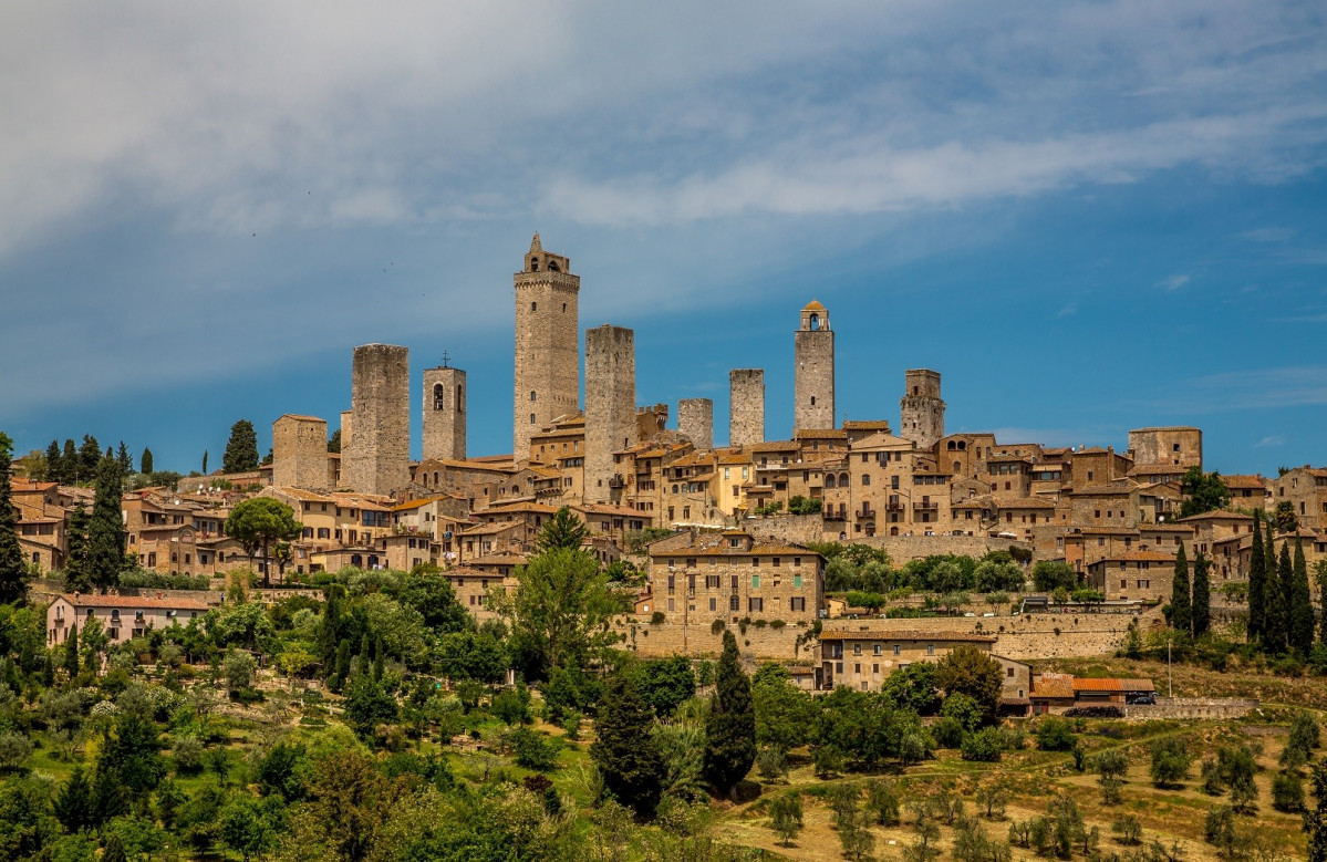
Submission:
[[[20,451],[215,465],[239,418],[334,427],[373,341],[417,389],[450,351],[510,451],[537,229],[638,400],[711,397],[721,440],[731,367],[788,434],[815,297],[840,418],[925,366],[950,430],[1327,463],[1320,4],[15,4],[0,118]]]

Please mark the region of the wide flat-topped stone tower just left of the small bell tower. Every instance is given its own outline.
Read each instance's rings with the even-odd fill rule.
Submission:
[[[354,349],[350,414],[354,432],[349,456],[342,444],[341,484],[361,493],[405,492],[410,484],[409,349]]]

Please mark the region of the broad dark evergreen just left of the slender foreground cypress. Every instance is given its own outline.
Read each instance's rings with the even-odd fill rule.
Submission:
[[[598,739],[589,753],[604,776],[604,786],[641,817],[654,813],[664,778],[664,761],[650,733],[653,721],[636,680],[628,674],[610,676],[594,723]]]

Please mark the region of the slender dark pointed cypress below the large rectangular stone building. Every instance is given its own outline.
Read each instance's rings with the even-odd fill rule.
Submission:
[[[723,652],[714,676],[714,696],[705,720],[705,777],[731,793],[755,763],[755,707],[751,680],[738,660],[738,642],[723,633]]]

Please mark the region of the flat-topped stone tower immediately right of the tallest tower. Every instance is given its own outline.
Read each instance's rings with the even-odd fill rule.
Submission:
[[[613,452],[636,442],[636,333],[585,330],[585,500],[610,499]]]

